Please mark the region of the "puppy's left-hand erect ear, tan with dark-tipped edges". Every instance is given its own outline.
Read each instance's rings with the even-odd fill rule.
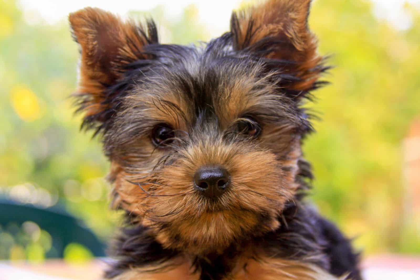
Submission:
[[[147,30],[133,22],[98,8],[84,8],[68,17],[74,40],[81,47],[79,87],[76,92],[79,110],[85,111],[87,128],[106,126],[121,96],[121,89],[109,90],[124,77],[131,62],[147,59],[142,49],[157,44],[153,21]]]

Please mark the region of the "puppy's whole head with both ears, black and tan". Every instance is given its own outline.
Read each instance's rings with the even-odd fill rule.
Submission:
[[[168,248],[205,254],[280,226],[298,192],[302,97],[326,67],[308,0],[234,13],[205,47],[160,45],[155,25],[86,8],[80,110],[102,132],[113,205]]]

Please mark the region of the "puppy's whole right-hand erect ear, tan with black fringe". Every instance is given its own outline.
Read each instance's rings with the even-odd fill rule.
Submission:
[[[281,86],[294,97],[319,87],[320,73],[328,69],[308,29],[310,2],[268,0],[231,17],[234,49],[260,56],[281,71]]]

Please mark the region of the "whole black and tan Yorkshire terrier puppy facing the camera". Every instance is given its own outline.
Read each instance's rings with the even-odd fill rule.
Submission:
[[[101,135],[112,207],[127,213],[105,278],[361,279],[348,239],[303,199],[302,103],[328,69],[309,8],[234,12],[231,30],[200,47],[159,44],[151,20],[69,16],[82,127]]]

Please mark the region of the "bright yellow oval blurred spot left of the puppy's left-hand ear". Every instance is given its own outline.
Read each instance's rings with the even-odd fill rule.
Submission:
[[[41,117],[38,97],[26,86],[13,87],[10,99],[16,114],[24,121],[32,122]]]

